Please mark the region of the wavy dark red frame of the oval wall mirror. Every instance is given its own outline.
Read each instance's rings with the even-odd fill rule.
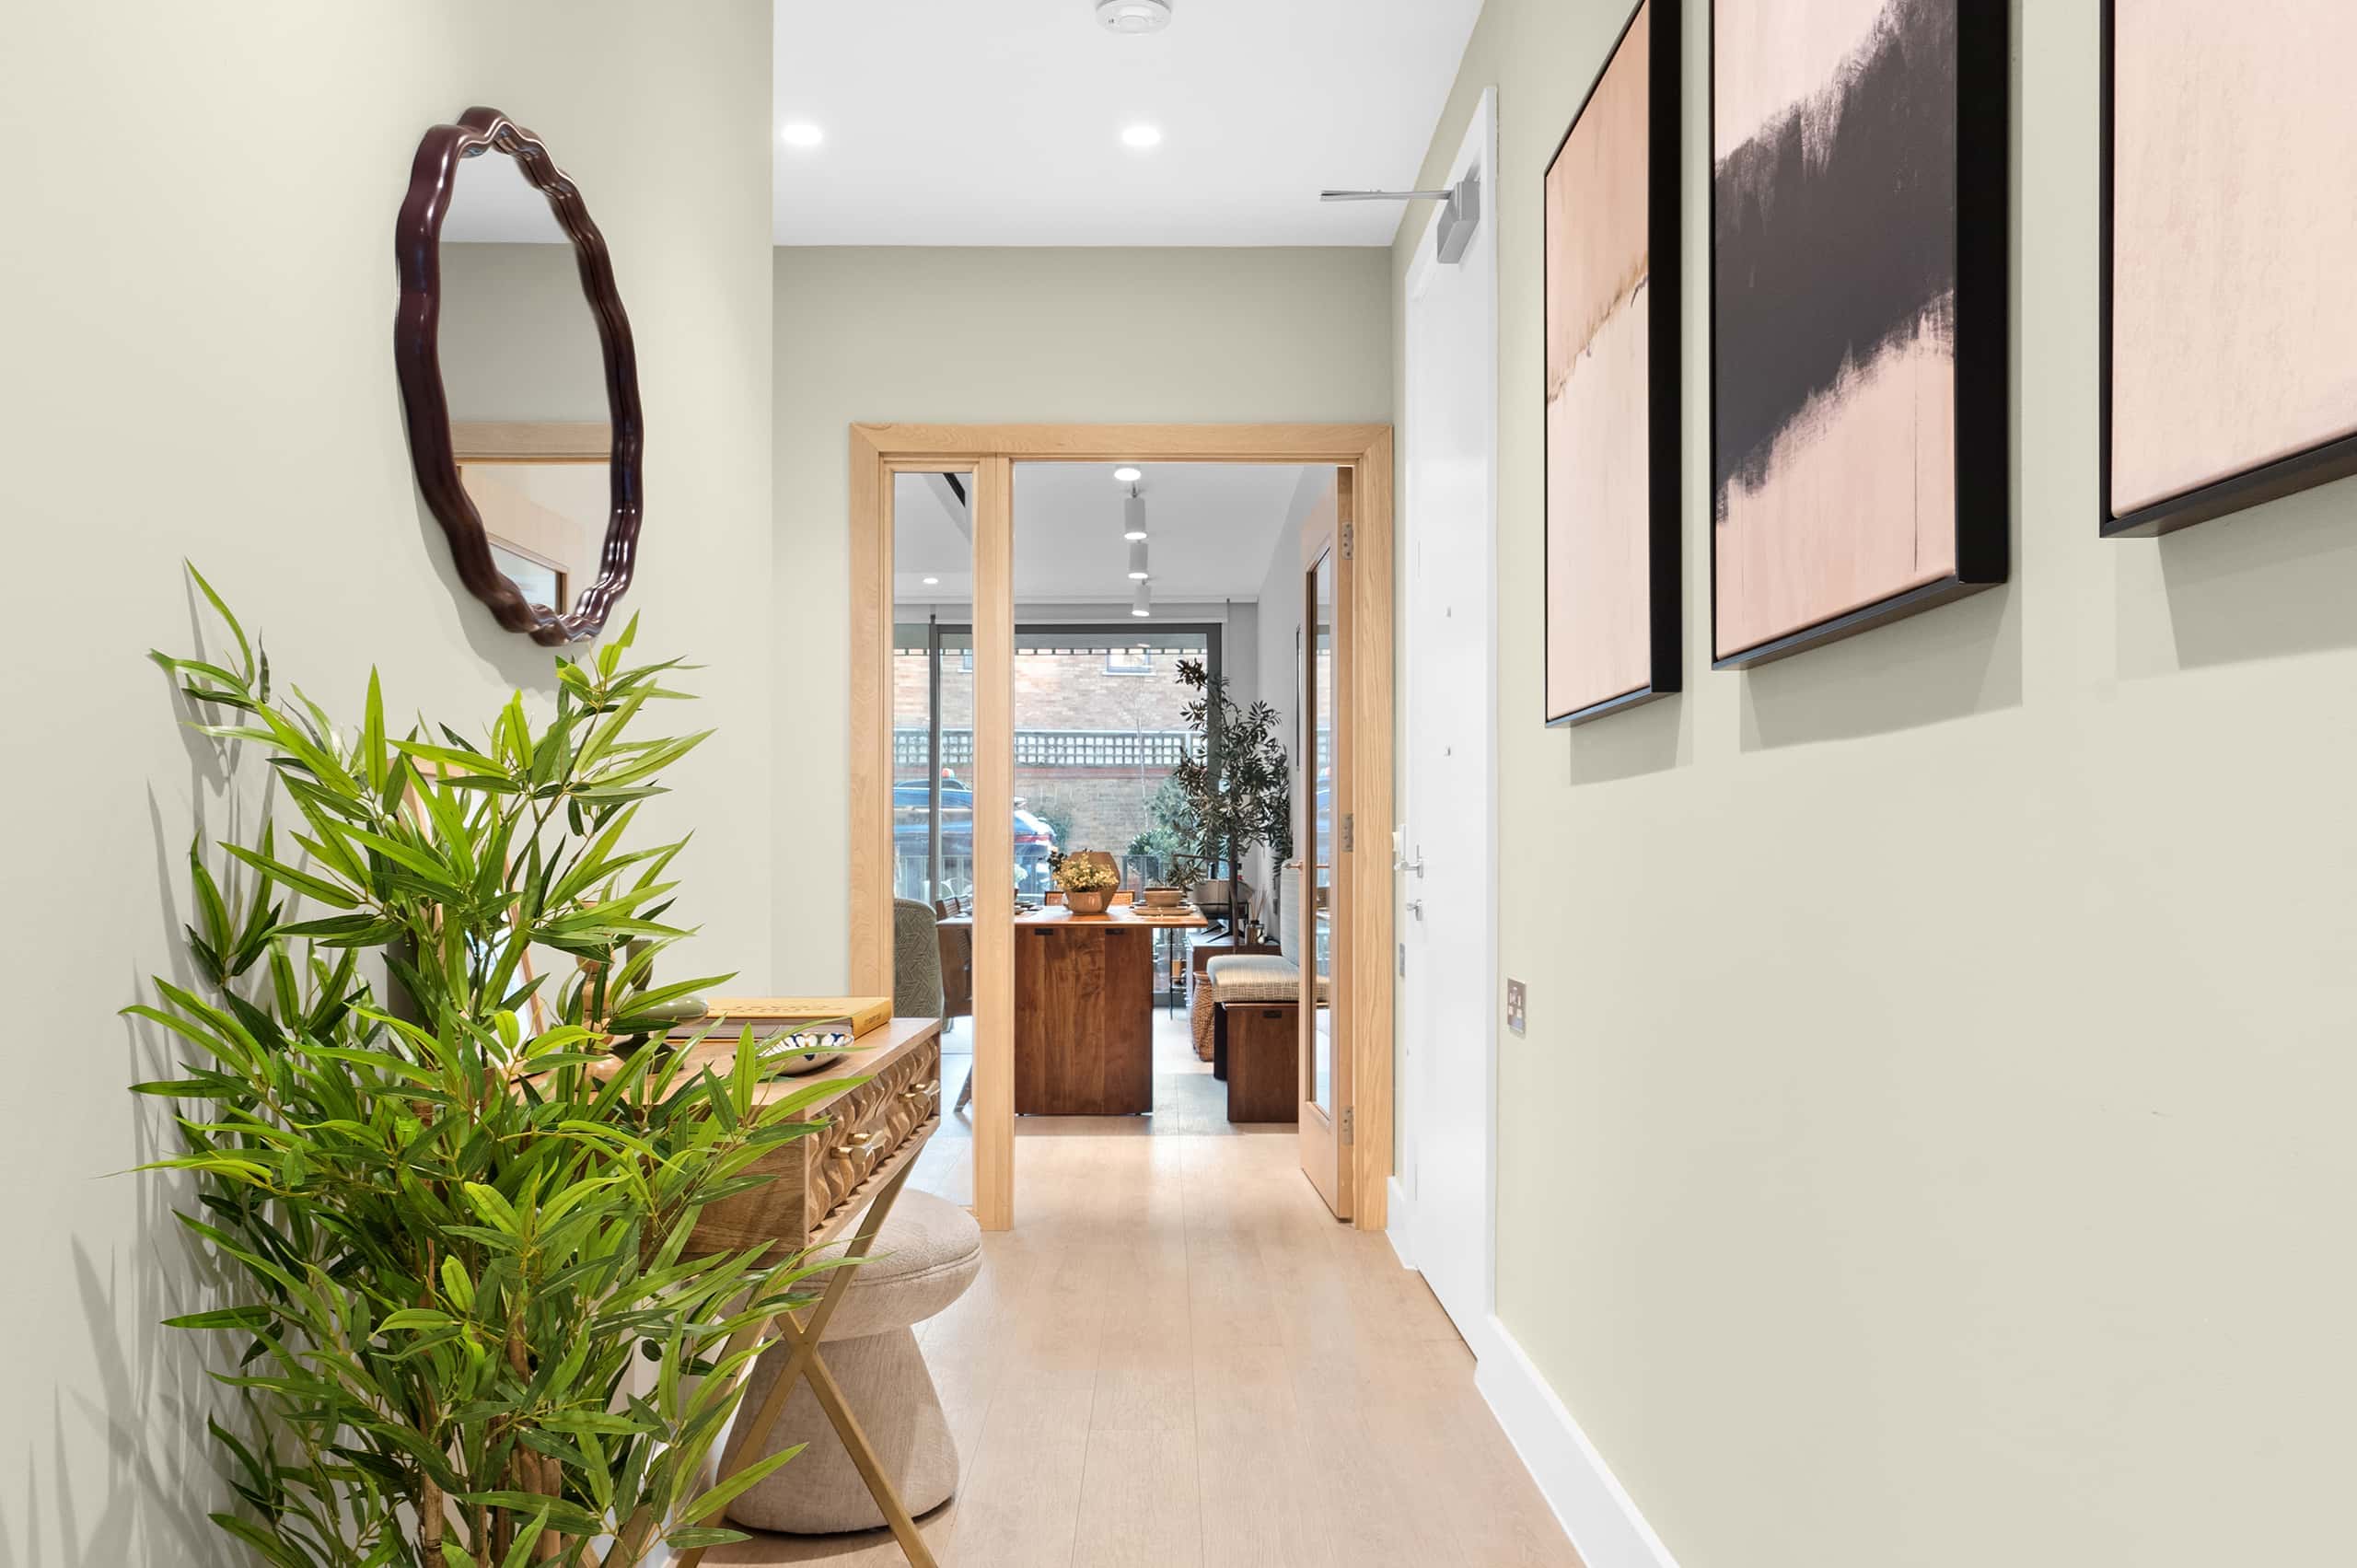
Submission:
[[[441,226],[450,212],[457,165],[486,151],[507,153],[523,177],[549,198],[556,224],[573,241],[580,262],[582,292],[596,316],[599,347],[606,358],[606,406],[613,413],[613,457],[608,476],[613,502],[606,516],[606,547],[599,554],[599,578],[566,613],[537,606],[516,592],[507,573],[490,559],[490,538],[467,486],[460,483],[450,446],[450,401],[441,380]],[[469,108],[457,125],[436,125],[417,144],[410,165],[410,193],[401,203],[394,229],[394,262],[401,269],[401,309],[394,316],[394,370],[401,377],[401,410],[410,424],[410,467],[434,521],[450,540],[450,559],[467,589],[490,606],[509,632],[533,641],[563,646],[596,637],[615,599],[629,589],[639,561],[639,521],[643,516],[641,462],[646,429],[639,413],[639,356],[629,340],[629,316],[613,285],[613,259],[606,236],[589,222],[580,189],[556,167],[549,149],[533,132],[497,108]]]

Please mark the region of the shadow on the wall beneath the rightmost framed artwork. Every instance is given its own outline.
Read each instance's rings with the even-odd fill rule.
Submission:
[[[2119,674],[2357,646],[2357,483],[2303,490],[2159,540],[2117,540]]]

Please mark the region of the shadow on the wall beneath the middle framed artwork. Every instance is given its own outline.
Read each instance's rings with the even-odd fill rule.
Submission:
[[[2020,585],[2003,582],[1742,672],[1742,750],[1860,740],[2022,705]]]

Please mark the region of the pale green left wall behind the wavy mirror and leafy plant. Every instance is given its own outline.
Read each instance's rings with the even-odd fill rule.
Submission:
[[[113,1014],[177,969],[191,821],[252,823],[252,778],[214,776],[141,658],[196,637],[179,559],[337,712],[370,663],[396,712],[462,724],[549,689],[549,653],[455,594],[394,387],[394,212],[420,132],[469,104],[547,134],[613,245],[648,420],[625,608],[709,665],[676,722],[721,726],[662,823],[698,830],[709,962],[766,971],[768,61],[768,0],[9,9],[0,1563],[245,1561],[205,1521],[226,1394],[156,1327],[212,1304],[179,1193],[111,1174],[170,1137],[125,1094],[170,1063]]]

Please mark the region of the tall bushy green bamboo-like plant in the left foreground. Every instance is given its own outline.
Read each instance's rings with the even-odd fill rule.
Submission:
[[[653,983],[688,936],[662,922],[681,844],[629,844],[705,738],[632,733],[681,696],[676,660],[622,667],[632,625],[556,660],[547,724],[516,693],[481,743],[391,733],[372,674],[337,729],[196,585],[233,658],[153,658],[292,806],[247,842],[198,832],[193,974],[127,1009],[179,1047],[181,1075],[137,1092],[179,1108],[153,1165],[191,1174],[177,1219],[229,1302],[170,1320],[229,1356],[207,1429],[243,1507],[214,1523],[288,1568],[620,1568],[740,1540],[705,1521],[794,1450],[700,1476],[816,1269],[698,1250],[695,1224],[839,1080],[761,1103],[750,1035],[726,1073],[615,1052],[726,979]],[[535,948],[570,974],[535,979]]]

